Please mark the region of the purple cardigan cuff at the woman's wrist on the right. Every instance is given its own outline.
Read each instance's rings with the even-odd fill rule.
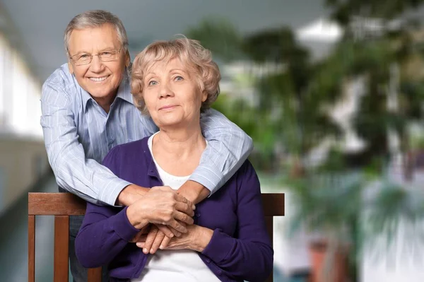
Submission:
[[[220,229],[213,230],[211,241],[201,252],[217,264],[222,262],[235,247],[235,239],[223,233]]]

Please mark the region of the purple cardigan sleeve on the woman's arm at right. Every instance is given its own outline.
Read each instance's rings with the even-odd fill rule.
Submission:
[[[242,170],[237,187],[236,235],[214,230],[202,254],[237,280],[265,281],[272,271],[273,249],[266,231],[260,184],[248,161]]]

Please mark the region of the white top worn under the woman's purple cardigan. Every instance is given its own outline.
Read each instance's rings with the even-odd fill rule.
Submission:
[[[153,156],[153,136],[155,134],[148,139],[148,148],[151,151],[156,168],[158,168],[160,179],[163,181],[163,185],[176,190],[189,179],[190,175],[170,175],[160,168]],[[211,269],[208,269],[208,266],[201,260],[197,252],[189,249],[158,249],[155,254],[149,255],[146,266],[139,278],[132,279],[131,281],[216,282],[220,280],[213,274]]]

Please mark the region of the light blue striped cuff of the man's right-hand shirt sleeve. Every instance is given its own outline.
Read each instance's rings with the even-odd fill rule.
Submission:
[[[209,196],[218,191],[225,183],[223,173],[211,165],[201,165],[196,168],[189,180],[198,182],[206,187],[206,189],[211,191]]]

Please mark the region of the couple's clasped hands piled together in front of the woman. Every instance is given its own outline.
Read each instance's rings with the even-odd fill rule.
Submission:
[[[193,240],[201,227],[193,225],[196,207],[170,187],[153,187],[131,204],[126,214],[129,222],[140,232],[131,242],[143,248],[145,254],[158,249],[196,249]]]

